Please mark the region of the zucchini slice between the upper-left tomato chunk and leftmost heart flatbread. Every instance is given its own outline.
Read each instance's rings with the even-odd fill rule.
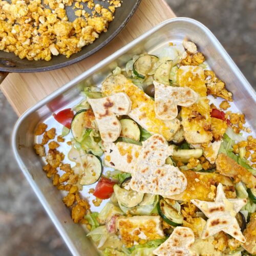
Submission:
[[[80,110],[78,111],[75,116],[73,117],[73,120],[71,122],[71,132],[74,137],[74,139],[77,142],[81,142],[83,140],[83,135],[86,132],[86,127],[83,126],[84,123],[84,112],[87,110]]]

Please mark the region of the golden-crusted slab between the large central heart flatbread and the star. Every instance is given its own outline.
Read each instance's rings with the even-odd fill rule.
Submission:
[[[213,201],[216,196],[216,184],[222,183],[227,198],[236,198],[236,191],[230,178],[215,174],[194,172],[186,170],[183,172],[187,180],[186,189],[179,195],[173,195],[170,199],[188,202],[190,199]]]

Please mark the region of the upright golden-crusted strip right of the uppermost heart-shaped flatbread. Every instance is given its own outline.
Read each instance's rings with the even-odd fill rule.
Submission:
[[[185,139],[190,144],[208,144],[212,139],[212,133],[204,70],[198,66],[181,66],[177,72],[177,81],[180,87],[188,87],[199,96],[196,103],[188,108],[181,108],[181,124]]]

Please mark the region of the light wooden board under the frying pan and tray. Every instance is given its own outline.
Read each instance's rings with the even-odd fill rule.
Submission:
[[[124,0],[129,1],[129,0]],[[39,73],[12,73],[0,85],[18,116],[63,84],[94,66],[174,12],[164,0],[142,0],[126,27],[105,47],[71,66]]]

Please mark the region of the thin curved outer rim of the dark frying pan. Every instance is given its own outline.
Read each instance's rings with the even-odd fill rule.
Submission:
[[[129,20],[132,18],[134,15],[135,11],[139,7],[141,0],[136,0],[136,3],[132,10],[130,11],[129,15],[124,19],[124,21],[120,24],[120,26],[115,30],[114,33],[112,33],[108,38],[106,38],[104,41],[101,42],[97,47],[92,49],[91,51],[82,54],[79,57],[76,57],[72,60],[68,60],[65,62],[57,63],[52,66],[48,67],[39,67],[39,68],[25,68],[25,69],[17,69],[17,68],[9,68],[9,67],[0,67],[0,71],[2,72],[9,72],[9,73],[36,73],[36,72],[44,72],[44,71],[50,71],[50,70],[56,70],[60,68],[64,68],[67,66],[70,66],[80,60],[86,59],[87,57],[93,55],[95,52],[99,51],[101,48],[104,46],[108,45],[109,42],[111,42],[121,31],[122,29],[126,26],[126,24],[129,22]],[[32,60],[33,61],[33,60]],[[31,61],[31,63],[32,63]]]

